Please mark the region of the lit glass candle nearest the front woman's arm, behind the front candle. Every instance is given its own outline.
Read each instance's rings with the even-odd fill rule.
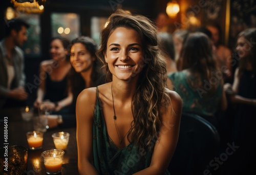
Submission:
[[[56,149],[65,150],[69,143],[69,133],[67,132],[58,132],[52,134],[53,142]]]

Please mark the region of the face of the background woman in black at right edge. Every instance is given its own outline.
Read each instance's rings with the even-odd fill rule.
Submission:
[[[244,36],[238,38],[236,50],[240,58],[247,57],[251,52],[251,49],[252,48],[248,45]]]

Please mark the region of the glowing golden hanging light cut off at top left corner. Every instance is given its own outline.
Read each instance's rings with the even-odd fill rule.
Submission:
[[[17,12],[42,13],[46,0],[11,0]]]

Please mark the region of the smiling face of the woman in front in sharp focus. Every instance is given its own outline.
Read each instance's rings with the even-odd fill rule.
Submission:
[[[134,29],[119,27],[109,36],[105,61],[113,79],[138,78],[144,64],[143,56],[142,43]]]

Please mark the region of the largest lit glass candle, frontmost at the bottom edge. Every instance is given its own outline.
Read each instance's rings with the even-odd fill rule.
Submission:
[[[61,171],[64,151],[60,149],[51,149],[42,152],[46,173],[57,174]]]

